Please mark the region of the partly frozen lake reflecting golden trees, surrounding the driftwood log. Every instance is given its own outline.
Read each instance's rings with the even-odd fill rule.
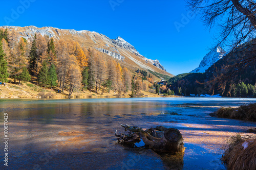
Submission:
[[[256,124],[209,113],[255,102],[238,98],[1,99],[1,125],[8,113],[8,169],[225,169],[220,148],[226,137],[255,133]],[[120,124],[177,128],[185,153],[158,155],[123,147],[114,134],[116,129],[124,132]],[[4,136],[3,130],[0,135]],[[2,157],[3,149],[0,153]]]

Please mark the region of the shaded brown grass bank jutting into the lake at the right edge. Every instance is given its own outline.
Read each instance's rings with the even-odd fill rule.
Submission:
[[[218,117],[256,121],[256,103],[242,105],[239,108],[220,108],[214,114]]]

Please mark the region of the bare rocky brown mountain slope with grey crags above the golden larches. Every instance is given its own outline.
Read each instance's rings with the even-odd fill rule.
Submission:
[[[147,59],[140,55],[133,45],[126,42],[121,37],[111,39],[97,32],[63,30],[53,27],[37,28],[34,26],[3,26],[3,28],[7,28],[9,31],[15,31],[29,41],[32,40],[35,34],[41,34],[42,36],[48,35],[50,38],[53,37],[56,39],[72,39],[79,42],[82,46],[95,48],[106,58],[112,57],[116,59],[122,66],[130,68],[131,70],[137,70],[138,68],[146,69],[155,71],[160,75],[173,77],[172,74],[166,72],[158,60]]]

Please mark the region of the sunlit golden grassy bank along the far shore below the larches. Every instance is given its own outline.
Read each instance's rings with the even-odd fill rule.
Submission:
[[[156,93],[141,91],[143,95],[142,98],[160,98],[161,95]],[[58,92],[57,88],[43,88],[31,83],[22,83],[22,84],[13,84],[6,83],[6,86],[0,86],[0,99],[10,98],[10,99],[32,99],[32,98],[50,98],[50,99],[66,99],[68,98],[69,91],[68,89],[64,89],[63,92]],[[90,92],[89,90],[80,90],[74,89],[74,92],[71,95],[71,98],[131,98],[132,91],[128,91],[127,93],[118,94],[114,91],[110,91],[110,93],[105,92],[101,94],[101,89],[97,93],[95,91]],[[182,96],[171,95],[167,96],[169,98],[180,98]]]

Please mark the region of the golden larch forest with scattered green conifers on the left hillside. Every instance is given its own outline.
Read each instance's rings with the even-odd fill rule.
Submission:
[[[132,76],[126,67],[115,60],[106,60],[94,48],[79,45],[73,40],[53,39],[36,34],[33,40],[12,31],[0,29],[0,81],[14,83],[30,81],[45,88],[69,91],[74,88],[103,94],[113,90],[132,95],[147,91],[143,80],[154,83],[147,71]],[[150,87],[150,86],[149,86]]]

